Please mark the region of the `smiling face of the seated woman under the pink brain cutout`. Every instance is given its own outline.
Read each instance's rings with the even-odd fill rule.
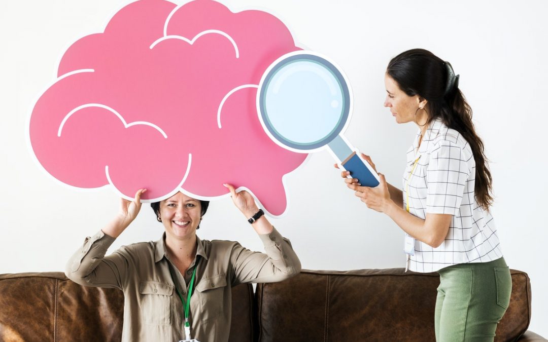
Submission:
[[[160,202],[160,218],[165,234],[185,238],[196,234],[202,207],[200,201],[183,193],[176,193]]]

